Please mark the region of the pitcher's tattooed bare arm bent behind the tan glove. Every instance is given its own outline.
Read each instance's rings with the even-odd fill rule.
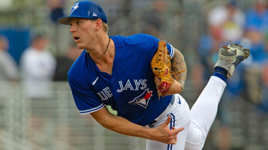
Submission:
[[[171,61],[171,70],[173,72],[178,72],[180,70],[186,69],[186,64],[184,61],[183,54],[181,54],[181,52],[175,48],[174,48],[174,55],[170,61]],[[181,84],[181,92],[184,89],[184,82],[186,79],[186,74],[187,74],[187,70],[182,73],[178,73],[174,75],[174,76],[177,76],[178,82]]]

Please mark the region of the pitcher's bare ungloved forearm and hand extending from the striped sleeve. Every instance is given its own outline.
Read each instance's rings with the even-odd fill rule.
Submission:
[[[123,135],[155,140],[166,144],[176,144],[177,134],[184,129],[183,127],[178,129],[172,127],[172,129],[170,129],[168,127],[171,121],[170,116],[168,116],[165,123],[159,125],[157,128],[150,129],[134,124],[125,118],[112,115],[106,107],[91,113],[91,115],[98,121],[98,123],[111,131]]]

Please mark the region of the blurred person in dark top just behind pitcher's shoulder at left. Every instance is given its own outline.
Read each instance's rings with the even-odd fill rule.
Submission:
[[[57,67],[55,70],[54,81],[68,81],[68,71],[75,62],[76,58],[80,56],[83,49],[77,48],[76,43],[70,46],[68,52],[63,57],[57,58]]]

